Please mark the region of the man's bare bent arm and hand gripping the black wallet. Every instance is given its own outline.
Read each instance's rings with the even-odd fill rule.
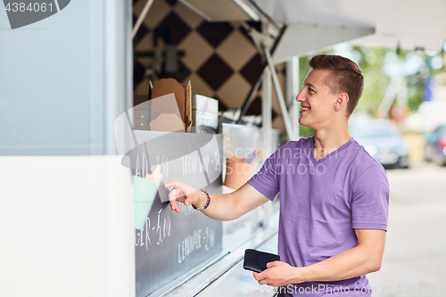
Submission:
[[[285,262],[270,262],[268,269],[254,277],[260,285],[285,286],[303,282],[328,282],[366,275],[381,268],[384,230],[355,229],[358,245],[327,260],[294,268]]]

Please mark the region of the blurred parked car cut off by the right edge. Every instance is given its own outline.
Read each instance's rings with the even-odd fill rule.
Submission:
[[[434,129],[425,136],[425,161],[434,161],[440,166],[446,165],[446,124]]]

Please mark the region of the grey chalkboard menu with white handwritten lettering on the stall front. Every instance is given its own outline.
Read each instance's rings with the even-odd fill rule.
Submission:
[[[178,203],[169,206],[164,184],[177,180],[221,194],[223,137],[212,134],[134,130],[137,145],[123,158],[132,174],[145,177],[157,164],[163,179],[143,229],[135,231],[136,296],[142,297],[221,251],[222,223]]]

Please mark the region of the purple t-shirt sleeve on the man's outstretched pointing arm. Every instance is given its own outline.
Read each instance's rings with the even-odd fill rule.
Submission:
[[[248,180],[248,184],[271,200],[274,200],[279,193],[277,162],[279,161],[280,150],[281,149],[278,149],[275,153],[271,154],[268,159],[265,160],[259,172]]]

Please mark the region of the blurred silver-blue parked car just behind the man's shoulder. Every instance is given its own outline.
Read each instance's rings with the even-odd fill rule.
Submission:
[[[381,165],[409,168],[409,147],[390,120],[352,121],[350,133]]]

